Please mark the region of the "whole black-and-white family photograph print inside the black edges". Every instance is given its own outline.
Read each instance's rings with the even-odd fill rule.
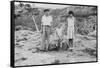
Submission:
[[[14,2],[14,65],[97,61],[97,6]]]

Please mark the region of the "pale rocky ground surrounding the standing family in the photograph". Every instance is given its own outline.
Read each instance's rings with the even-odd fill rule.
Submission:
[[[96,32],[76,35],[74,47],[68,50],[39,51],[41,33],[15,31],[15,66],[96,61]]]

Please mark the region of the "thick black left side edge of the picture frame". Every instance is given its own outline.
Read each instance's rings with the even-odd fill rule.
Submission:
[[[14,67],[14,1],[10,1],[10,66]]]

